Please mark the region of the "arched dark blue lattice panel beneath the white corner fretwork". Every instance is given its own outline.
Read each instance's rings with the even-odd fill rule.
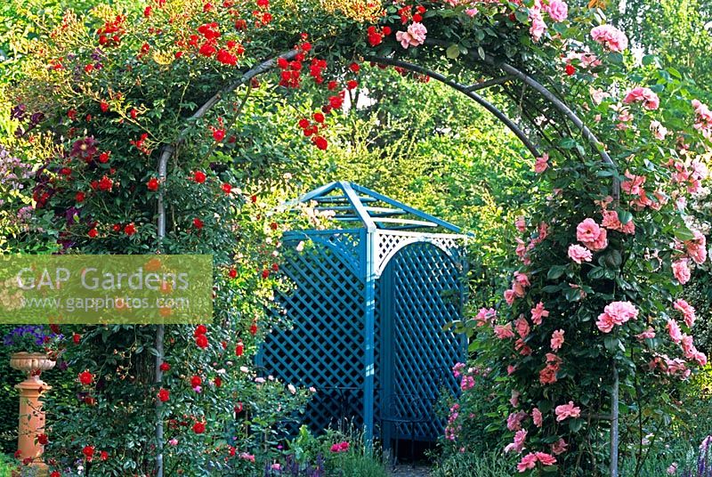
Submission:
[[[444,422],[435,416],[434,404],[443,391],[458,392],[450,368],[463,359],[464,339],[442,330],[447,322],[462,316],[458,260],[429,242],[417,242],[394,255],[379,279],[378,401],[384,413],[423,420],[415,426],[417,441],[433,441],[442,435]],[[395,429],[385,424],[383,431],[388,447]],[[400,425],[398,432],[409,438],[410,426]]]

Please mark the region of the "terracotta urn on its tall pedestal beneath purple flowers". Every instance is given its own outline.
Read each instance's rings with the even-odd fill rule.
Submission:
[[[52,386],[40,379],[43,371],[54,368],[56,361],[43,352],[15,352],[10,355],[11,368],[27,374],[27,379],[15,385],[20,392],[20,424],[18,426],[17,449],[20,459],[29,459],[35,475],[47,474],[47,465],[42,461],[44,446],[37,442],[37,436],[44,433],[44,410],[40,400],[44,392]]]

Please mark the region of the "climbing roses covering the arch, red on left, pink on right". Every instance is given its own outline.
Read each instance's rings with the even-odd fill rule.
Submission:
[[[34,230],[59,253],[209,253],[219,265],[216,324],[170,329],[165,383],[151,384],[145,363],[143,375],[125,368],[134,355],[157,352],[153,330],[79,334],[86,348],[75,371],[89,373],[77,375],[84,402],[88,396],[103,409],[95,392],[115,396],[114,405],[141,408],[145,422],[163,403],[158,418],[182,430],[175,445],[190,443],[166,451],[183,472],[189,456],[205,457],[213,473],[226,468],[221,458],[243,456],[217,443],[219,423],[239,415],[235,400],[249,381],[236,378],[225,383],[230,393],[213,397],[203,391],[225,389],[221,370],[235,369],[238,350],[255,351],[251,336],[263,329],[259,309],[273,285],[265,280],[279,270],[268,257],[279,255],[281,229],[246,212],[255,199],[240,186],[270,178],[255,181],[249,174],[263,171],[236,166],[251,141],[240,113],[252,93],[292,99],[302,90],[320,106],[302,110],[294,131],[313,153],[328,150],[329,123],[362,87],[367,58],[414,61],[471,83],[501,75],[506,62],[557,92],[601,140],[571,128],[552,101],[524,94],[512,78],[498,83],[495,91],[518,100],[512,111],[538,138],[536,206],[515,225],[521,262],[512,286],[497,308],[460,324],[481,365],[462,374],[463,389],[488,376],[494,392],[511,399],[500,426],[506,450],[519,455],[518,472],[599,472],[608,458],[602,417],[611,412],[613,369],[621,402],[667,416],[675,400],[661,391],[706,360],[690,331],[694,305],[676,296],[691,268],[706,262],[704,236],[685,218],[689,194],[707,175],[712,113],[675,69],[651,56],[635,67],[626,36],[603,12],[561,0],[157,0],[136,11],[68,12],[23,58],[12,92],[16,135],[25,140],[15,153],[43,162]],[[603,150],[615,166],[602,160]],[[158,158],[166,151],[164,178]],[[158,198],[168,206],[162,240]],[[116,353],[96,361],[105,343]],[[110,427],[103,424],[84,429],[87,442],[66,433],[63,457],[96,462],[97,436]],[[152,442],[143,427],[136,441],[149,456],[174,446]],[[134,462],[151,465],[145,456]]]

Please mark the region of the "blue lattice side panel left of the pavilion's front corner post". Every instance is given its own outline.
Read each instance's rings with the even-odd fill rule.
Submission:
[[[285,253],[282,271],[295,288],[277,302],[292,327],[266,338],[258,362],[285,383],[317,388],[305,423],[320,432],[343,417],[358,423],[362,415],[365,284],[352,236],[311,238],[302,253]],[[284,248],[294,250],[298,241],[286,239]]]

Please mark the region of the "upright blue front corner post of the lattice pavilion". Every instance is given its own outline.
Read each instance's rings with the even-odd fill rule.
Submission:
[[[363,377],[363,425],[364,440],[368,447],[373,443],[374,400],[376,378],[376,254],[378,248],[378,230],[368,229],[363,234],[366,241],[365,280],[365,323],[364,323],[364,371]]]

